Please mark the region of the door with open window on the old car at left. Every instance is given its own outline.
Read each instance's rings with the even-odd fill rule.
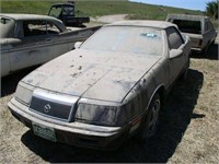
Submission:
[[[55,44],[54,36],[60,30],[51,30],[53,24],[45,20],[23,21],[20,24],[20,44],[10,51],[11,71],[47,62],[68,50],[68,45]],[[61,39],[60,39],[61,40]]]

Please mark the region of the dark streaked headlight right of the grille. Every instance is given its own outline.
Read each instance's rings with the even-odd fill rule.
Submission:
[[[76,120],[94,125],[113,126],[116,122],[116,114],[119,107],[79,104]]]

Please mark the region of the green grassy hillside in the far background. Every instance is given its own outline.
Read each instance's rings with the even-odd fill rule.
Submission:
[[[37,13],[47,14],[54,1],[1,1],[2,13]],[[168,13],[203,14],[200,11],[176,9],[163,5],[123,1],[76,1],[78,16],[101,16],[107,14],[128,14],[128,19],[164,20]]]

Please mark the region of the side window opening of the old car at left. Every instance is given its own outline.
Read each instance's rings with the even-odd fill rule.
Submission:
[[[24,36],[39,36],[48,34],[58,34],[60,30],[53,23],[44,20],[24,21]]]

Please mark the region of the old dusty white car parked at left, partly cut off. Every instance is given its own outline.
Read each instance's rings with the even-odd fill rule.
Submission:
[[[73,32],[61,21],[45,15],[0,14],[1,77],[62,55],[95,30]]]

